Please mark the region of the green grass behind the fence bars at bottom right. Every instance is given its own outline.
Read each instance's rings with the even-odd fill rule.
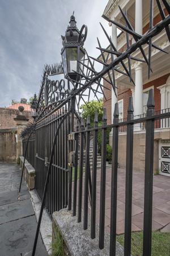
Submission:
[[[117,236],[117,241],[124,246],[124,234]],[[131,255],[143,255],[143,232],[131,233]],[[152,232],[152,256],[170,255],[170,233]]]

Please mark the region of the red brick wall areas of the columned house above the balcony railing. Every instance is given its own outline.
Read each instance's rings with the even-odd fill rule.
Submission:
[[[155,110],[161,109],[161,102],[160,102],[160,90],[158,89],[159,86],[166,84],[167,79],[169,77],[170,73],[167,75],[164,75],[162,77],[159,77],[158,79],[155,79],[153,81],[147,82],[145,85],[143,85],[143,89],[147,89],[150,86],[154,85],[154,98],[155,98]],[[107,88],[111,88],[111,85],[108,84],[108,82],[104,81],[104,86]],[[108,117],[108,123],[111,124],[111,118],[112,115],[112,93],[111,91],[104,89],[105,96],[107,100],[104,99],[104,108],[107,109],[107,117]],[[118,86],[118,100],[124,100],[124,118],[127,117],[127,111],[128,111],[128,103],[129,103],[129,97],[131,96],[131,90],[129,88]]]

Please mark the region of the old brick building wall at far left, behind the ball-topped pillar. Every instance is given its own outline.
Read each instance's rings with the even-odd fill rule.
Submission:
[[[16,122],[14,118],[19,113],[16,109],[0,108],[0,129],[8,129],[16,127]],[[29,111],[24,111],[24,115],[32,121],[31,113]]]

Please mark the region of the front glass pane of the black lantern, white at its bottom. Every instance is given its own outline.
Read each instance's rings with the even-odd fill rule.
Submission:
[[[77,48],[67,48],[67,67],[68,73],[77,71]],[[74,71],[73,71],[74,70]]]

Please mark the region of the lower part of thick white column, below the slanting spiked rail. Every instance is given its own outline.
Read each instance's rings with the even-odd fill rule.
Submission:
[[[135,68],[135,93],[134,93],[134,115],[143,114],[143,80],[142,65]]]

